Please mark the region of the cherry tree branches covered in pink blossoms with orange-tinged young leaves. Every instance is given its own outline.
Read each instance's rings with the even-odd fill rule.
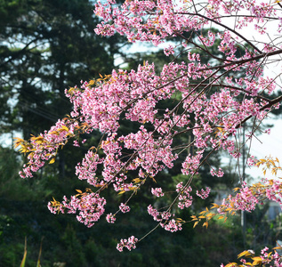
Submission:
[[[148,213],[156,221],[156,228],[181,231],[182,224],[188,222],[176,213],[193,205],[191,191],[196,189],[192,181],[199,169],[216,150],[226,150],[230,156],[240,158],[243,126],[253,125],[245,133],[246,142],[250,142],[260,131],[263,119],[271,110],[278,109],[282,101],[280,75],[265,74],[270,63],[280,61],[282,53],[282,4],[254,0],[125,0],[117,4],[108,0],[98,1],[94,13],[101,18],[96,34],[118,33],[132,43],[165,47],[165,55],[173,55],[173,61],[168,60],[160,73],[156,73],[154,63],[145,61],[138,69],[114,69],[109,75],[82,81],[79,87],[66,90],[73,104],[68,117],[59,119],[49,131],[32,136],[28,142],[16,139],[15,146],[28,153],[28,164],[20,176],[32,177],[45,163],[52,164],[67,142],[80,146],[87,143],[81,140],[82,134],[98,130],[103,134],[101,142],[89,144],[85,158],[76,167],[77,178],[88,182],[89,188],[77,190],[76,195],[63,197],[61,202],[53,199],[48,205],[51,212],[77,214],[77,220],[88,227],[102,215],[108,223],[115,223],[117,214],[130,212],[134,195],[153,180],[156,187],[149,189],[152,198]],[[180,43],[171,42],[175,38]],[[212,52],[214,44],[218,44],[216,55]],[[204,63],[195,49],[212,61]],[[179,61],[183,56],[186,60]],[[159,108],[165,100],[173,100],[172,109]],[[133,133],[122,135],[121,120],[139,126]],[[176,146],[175,138],[187,134],[192,135],[190,142]],[[181,165],[181,173],[189,177],[188,182],[179,182],[174,192],[165,192],[157,186],[157,174],[173,168],[175,160],[190,148],[193,153]],[[247,164],[265,164],[278,170],[278,159],[263,160],[250,156]],[[221,168],[210,167],[212,175],[224,175]],[[130,173],[135,178],[130,178]],[[281,204],[281,182],[265,180],[248,185],[241,179],[240,183],[238,193],[223,199],[222,205],[193,215],[194,226],[207,226],[214,214],[221,214],[223,219],[238,210],[252,211],[265,199]],[[107,199],[103,192],[109,188],[126,197],[114,214],[105,212]],[[210,190],[197,190],[196,195],[207,198]],[[154,205],[157,198],[168,195],[173,196],[169,206]],[[117,249],[131,250],[147,234],[122,239]],[[266,251],[261,258],[268,258]],[[275,266],[282,266],[280,257],[275,257],[271,259]]]

